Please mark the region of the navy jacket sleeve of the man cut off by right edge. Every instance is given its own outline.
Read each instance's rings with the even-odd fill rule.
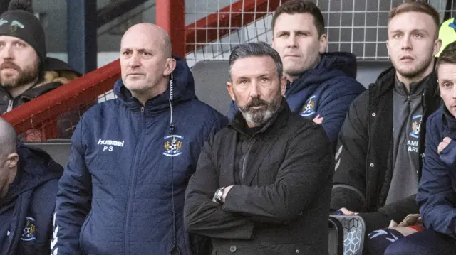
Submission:
[[[417,202],[425,228],[456,236],[456,193],[452,188],[450,168],[437,154],[440,137],[432,134],[432,129],[437,127],[431,126],[431,120],[427,121],[425,163]],[[448,147],[441,152],[442,156],[451,151]]]

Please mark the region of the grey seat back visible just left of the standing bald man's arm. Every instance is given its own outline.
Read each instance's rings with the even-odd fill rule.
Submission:
[[[55,139],[43,143],[25,143],[27,146],[41,148],[51,155],[54,161],[65,167],[71,150],[70,139]]]

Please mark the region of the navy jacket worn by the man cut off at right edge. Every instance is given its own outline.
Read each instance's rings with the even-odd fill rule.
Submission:
[[[445,137],[452,141],[438,154]],[[425,228],[456,237],[456,119],[445,105],[427,119],[425,163],[416,198]]]

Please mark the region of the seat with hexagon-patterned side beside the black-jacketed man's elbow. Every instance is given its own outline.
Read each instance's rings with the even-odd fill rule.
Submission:
[[[358,215],[331,215],[343,227],[343,255],[362,255],[366,223]]]

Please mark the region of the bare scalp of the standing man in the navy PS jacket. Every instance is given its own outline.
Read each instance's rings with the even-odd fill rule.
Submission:
[[[163,28],[152,23],[139,23],[130,28],[123,34],[122,45],[124,40],[144,40],[150,44],[150,47],[158,47],[165,54],[166,58],[171,58],[172,47],[170,36]],[[122,47],[122,46],[121,46]]]

